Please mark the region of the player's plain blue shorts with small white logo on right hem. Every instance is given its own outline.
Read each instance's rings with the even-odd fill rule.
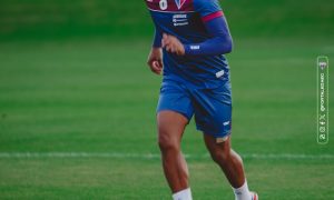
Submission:
[[[157,112],[171,110],[188,121],[195,114],[196,128],[205,134],[224,138],[232,128],[230,83],[215,89],[196,89],[177,81],[164,81]]]

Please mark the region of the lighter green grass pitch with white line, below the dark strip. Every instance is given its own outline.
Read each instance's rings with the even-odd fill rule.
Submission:
[[[315,60],[333,58],[334,46],[235,42],[233,146],[250,188],[267,200],[333,199],[334,146],[316,143]],[[1,43],[0,199],[170,199],[148,50],[147,41]],[[233,199],[193,122],[183,150],[195,199]],[[26,152],[37,154],[14,154]]]

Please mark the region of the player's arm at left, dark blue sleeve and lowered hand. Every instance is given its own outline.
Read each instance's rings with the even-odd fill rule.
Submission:
[[[156,29],[154,43],[148,54],[147,64],[154,73],[161,74],[163,71],[163,50],[161,50],[163,34]]]

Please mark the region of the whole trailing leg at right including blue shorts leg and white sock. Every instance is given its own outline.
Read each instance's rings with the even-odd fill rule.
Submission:
[[[213,160],[222,168],[236,200],[252,200],[242,158],[230,148],[232,104],[230,91],[226,87],[212,90],[195,90],[195,120]]]

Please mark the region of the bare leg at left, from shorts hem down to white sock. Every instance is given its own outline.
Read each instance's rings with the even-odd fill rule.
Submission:
[[[180,151],[180,141],[188,119],[174,111],[160,111],[157,121],[165,177],[173,193],[177,193],[189,188],[188,168]]]

